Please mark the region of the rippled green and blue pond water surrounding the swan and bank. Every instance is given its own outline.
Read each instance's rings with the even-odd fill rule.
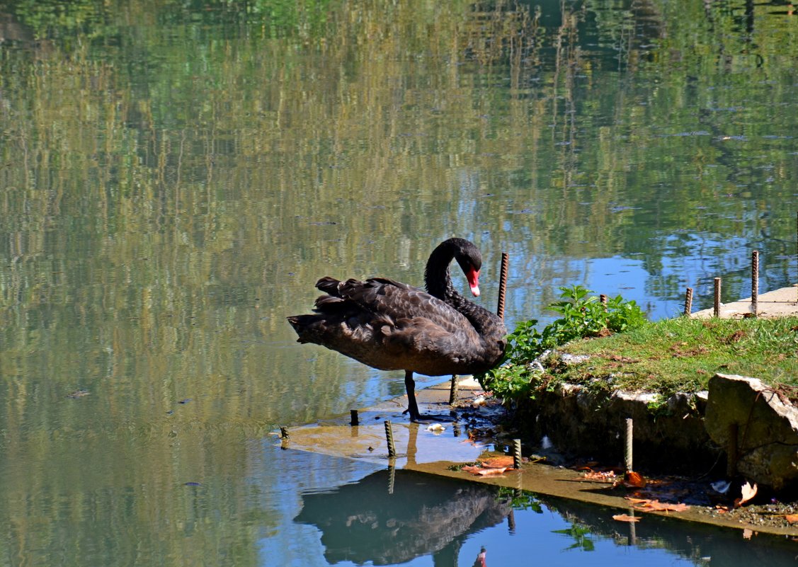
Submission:
[[[679,313],[687,286],[709,306],[715,277],[745,297],[754,249],[761,289],[795,282],[793,11],[0,2],[0,565],[763,553],[721,530],[670,539],[664,521],[618,545],[627,526],[606,510],[514,494],[512,511],[469,484],[440,490],[475,493],[451,498],[487,506],[479,522],[417,527],[447,541],[394,545],[396,523],[375,520],[388,551],[340,551],[361,536],[320,494],[383,473],[268,434],[403,392],[401,376],[297,345],[285,317],[327,274],[421,284],[452,235],[484,252],[483,305],[510,254],[511,326],[551,319],[560,285],[654,318]],[[437,502],[437,481],[409,482]],[[393,518],[390,499],[351,515]]]

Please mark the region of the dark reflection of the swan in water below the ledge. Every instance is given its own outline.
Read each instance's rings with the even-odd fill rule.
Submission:
[[[389,469],[303,494],[294,522],[322,532],[330,564],[392,565],[432,554],[435,565],[453,567],[468,535],[503,522],[511,510],[494,486]],[[480,553],[475,565],[485,565],[484,558]]]

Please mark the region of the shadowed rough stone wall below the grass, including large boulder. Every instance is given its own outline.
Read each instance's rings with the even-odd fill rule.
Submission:
[[[517,408],[517,424],[531,439],[547,436],[563,455],[623,463],[626,418],[632,418],[638,471],[719,478],[731,453],[733,469],[751,482],[798,491],[798,410],[775,389],[756,378],[717,374],[708,392],[680,393],[664,406],[652,406],[654,400],[654,394],[563,384]]]

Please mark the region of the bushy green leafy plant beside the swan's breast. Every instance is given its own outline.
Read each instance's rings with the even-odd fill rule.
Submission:
[[[535,378],[542,376],[542,372],[535,370],[531,363],[543,352],[575,339],[606,336],[646,322],[646,315],[637,303],[619,295],[604,304],[599,297],[590,296],[591,290],[583,285],[559,289],[560,301],[551,304],[549,309],[562,317],[542,331],[536,329],[538,321],[535,319],[516,325],[507,337],[501,364],[476,376],[483,388],[507,400],[534,398],[536,388],[541,385]]]

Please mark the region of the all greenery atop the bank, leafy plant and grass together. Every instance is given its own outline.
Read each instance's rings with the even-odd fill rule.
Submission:
[[[594,392],[657,393],[656,405],[675,392],[705,390],[721,372],[759,378],[798,402],[798,317],[650,322],[620,296],[605,304],[581,285],[560,290],[561,301],[549,309],[562,317],[543,329],[535,320],[520,322],[502,363],[476,376],[485,390],[524,404],[569,383]],[[541,360],[551,350],[588,357]]]

